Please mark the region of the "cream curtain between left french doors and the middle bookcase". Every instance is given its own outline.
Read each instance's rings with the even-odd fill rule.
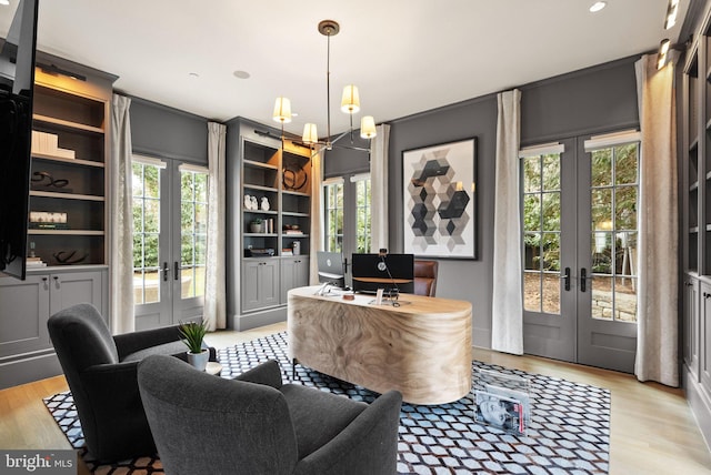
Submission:
[[[204,309],[202,320],[208,330],[224,329],[224,142],[227,127],[208,123],[208,247],[204,277]]]

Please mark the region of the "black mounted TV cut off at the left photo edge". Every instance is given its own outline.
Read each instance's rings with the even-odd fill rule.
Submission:
[[[39,0],[20,0],[0,40],[0,271],[24,280]]]

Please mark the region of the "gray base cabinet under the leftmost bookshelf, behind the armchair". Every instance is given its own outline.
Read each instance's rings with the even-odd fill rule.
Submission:
[[[50,315],[88,302],[107,315],[106,270],[0,277],[0,388],[61,374],[47,331]],[[107,322],[108,323],[108,322]]]

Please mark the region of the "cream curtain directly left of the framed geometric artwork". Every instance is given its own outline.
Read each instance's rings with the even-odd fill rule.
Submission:
[[[370,252],[388,247],[388,148],[390,125],[380,124],[370,142]]]

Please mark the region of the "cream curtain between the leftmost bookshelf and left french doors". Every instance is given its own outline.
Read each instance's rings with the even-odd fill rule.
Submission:
[[[131,100],[113,94],[111,101],[111,332],[136,330],[133,313],[133,213],[131,191]]]

